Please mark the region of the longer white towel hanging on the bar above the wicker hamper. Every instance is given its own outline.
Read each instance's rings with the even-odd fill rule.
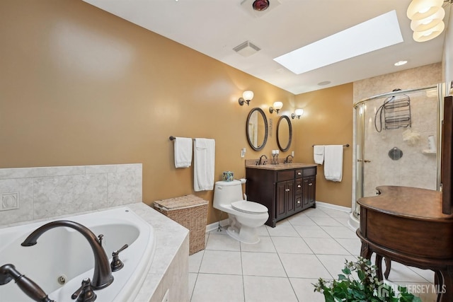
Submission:
[[[193,153],[193,189],[195,192],[214,190],[214,139],[195,139]]]

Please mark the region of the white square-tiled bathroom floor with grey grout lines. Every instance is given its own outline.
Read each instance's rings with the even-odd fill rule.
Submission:
[[[307,209],[275,228],[259,229],[260,242],[248,245],[226,234],[207,233],[205,250],[189,257],[191,302],[323,302],[314,293],[319,277],[336,278],[345,259],[360,255],[360,240],[348,226],[349,214],[326,207]],[[418,296],[434,281],[431,271],[392,262],[389,281],[420,284]],[[423,287],[425,286],[425,287]]]

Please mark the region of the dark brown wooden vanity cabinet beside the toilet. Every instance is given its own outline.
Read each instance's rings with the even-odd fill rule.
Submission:
[[[277,221],[316,207],[316,166],[278,170],[246,167],[246,179],[248,200],[268,207],[268,226],[275,227]]]

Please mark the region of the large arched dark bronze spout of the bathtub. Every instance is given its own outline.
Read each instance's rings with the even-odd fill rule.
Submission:
[[[49,231],[51,228],[57,228],[60,226],[74,228],[74,230],[81,233],[86,240],[88,240],[94,255],[94,273],[93,278],[91,279],[91,287],[93,287],[93,289],[103,289],[104,287],[109,286],[113,282],[112,269],[110,269],[110,263],[108,262],[107,254],[105,254],[105,250],[101,245],[101,240],[96,238],[96,235],[94,235],[93,232],[91,232],[86,226],[82,226],[80,223],[68,220],[46,223],[44,226],[40,226],[27,238],[25,238],[21,245],[35,245],[42,233]]]

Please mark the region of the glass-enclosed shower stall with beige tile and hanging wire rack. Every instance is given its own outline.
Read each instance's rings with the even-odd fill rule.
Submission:
[[[440,190],[442,88],[396,89],[354,104],[352,226],[360,216],[357,200],[375,196],[377,186]]]

